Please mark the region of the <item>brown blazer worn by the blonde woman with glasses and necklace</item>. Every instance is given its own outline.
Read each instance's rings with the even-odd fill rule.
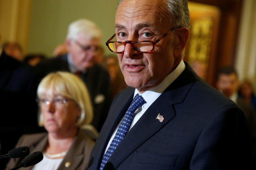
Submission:
[[[30,154],[36,151],[44,151],[44,147],[48,142],[48,133],[37,133],[23,135],[20,137],[15,148],[20,146],[28,146]],[[85,170],[89,160],[90,153],[94,142],[85,136],[83,130],[78,130],[73,144],[68,150],[67,155],[60,163],[58,170]],[[20,164],[24,158],[10,159],[5,170],[9,170]],[[33,166],[22,168],[23,170],[31,170]]]

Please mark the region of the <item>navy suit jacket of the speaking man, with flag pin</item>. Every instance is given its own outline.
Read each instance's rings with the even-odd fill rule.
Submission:
[[[185,64],[181,75],[126,134],[104,169],[248,169],[252,158],[246,116]],[[99,169],[133,94],[134,88],[128,87],[113,100],[88,170]],[[163,122],[156,119],[158,113]]]

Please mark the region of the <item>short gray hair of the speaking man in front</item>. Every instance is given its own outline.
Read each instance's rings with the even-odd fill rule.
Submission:
[[[117,7],[123,0],[118,2]],[[189,28],[190,16],[188,11],[188,0],[165,0],[166,9],[170,15],[170,22],[174,26]]]

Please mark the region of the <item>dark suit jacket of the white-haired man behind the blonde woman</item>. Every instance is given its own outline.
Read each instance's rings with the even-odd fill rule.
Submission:
[[[53,71],[69,71],[67,55],[60,55],[36,65],[37,78],[39,81],[48,73]],[[98,64],[94,64],[88,69],[86,74],[81,74],[80,78],[86,84],[93,105],[92,125],[100,131],[106,120],[108,109],[111,104],[110,78],[108,71]],[[100,99],[103,94],[105,100],[101,103],[95,102],[95,97]],[[97,100],[97,99],[96,99]]]

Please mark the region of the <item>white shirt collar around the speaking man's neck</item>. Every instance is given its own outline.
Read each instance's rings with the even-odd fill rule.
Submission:
[[[185,63],[183,62],[183,60],[181,60],[178,66],[170,74],[168,74],[166,78],[164,78],[164,80],[159,85],[157,85],[156,87],[150,90],[145,91],[142,94],[139,92],[139,90],[135,89],[133,98],[138,93],[140,96],[144,98],[144,100],[148,104],[151,105],[156,100],[156,98],[159,97],[164,92],[164,90],[169,85],[171,85],[176,78],[180,76],[180,74],[185,70],[185,68],[186,68]],[[152,96],[155,96],[155,97],[152,98]]]

